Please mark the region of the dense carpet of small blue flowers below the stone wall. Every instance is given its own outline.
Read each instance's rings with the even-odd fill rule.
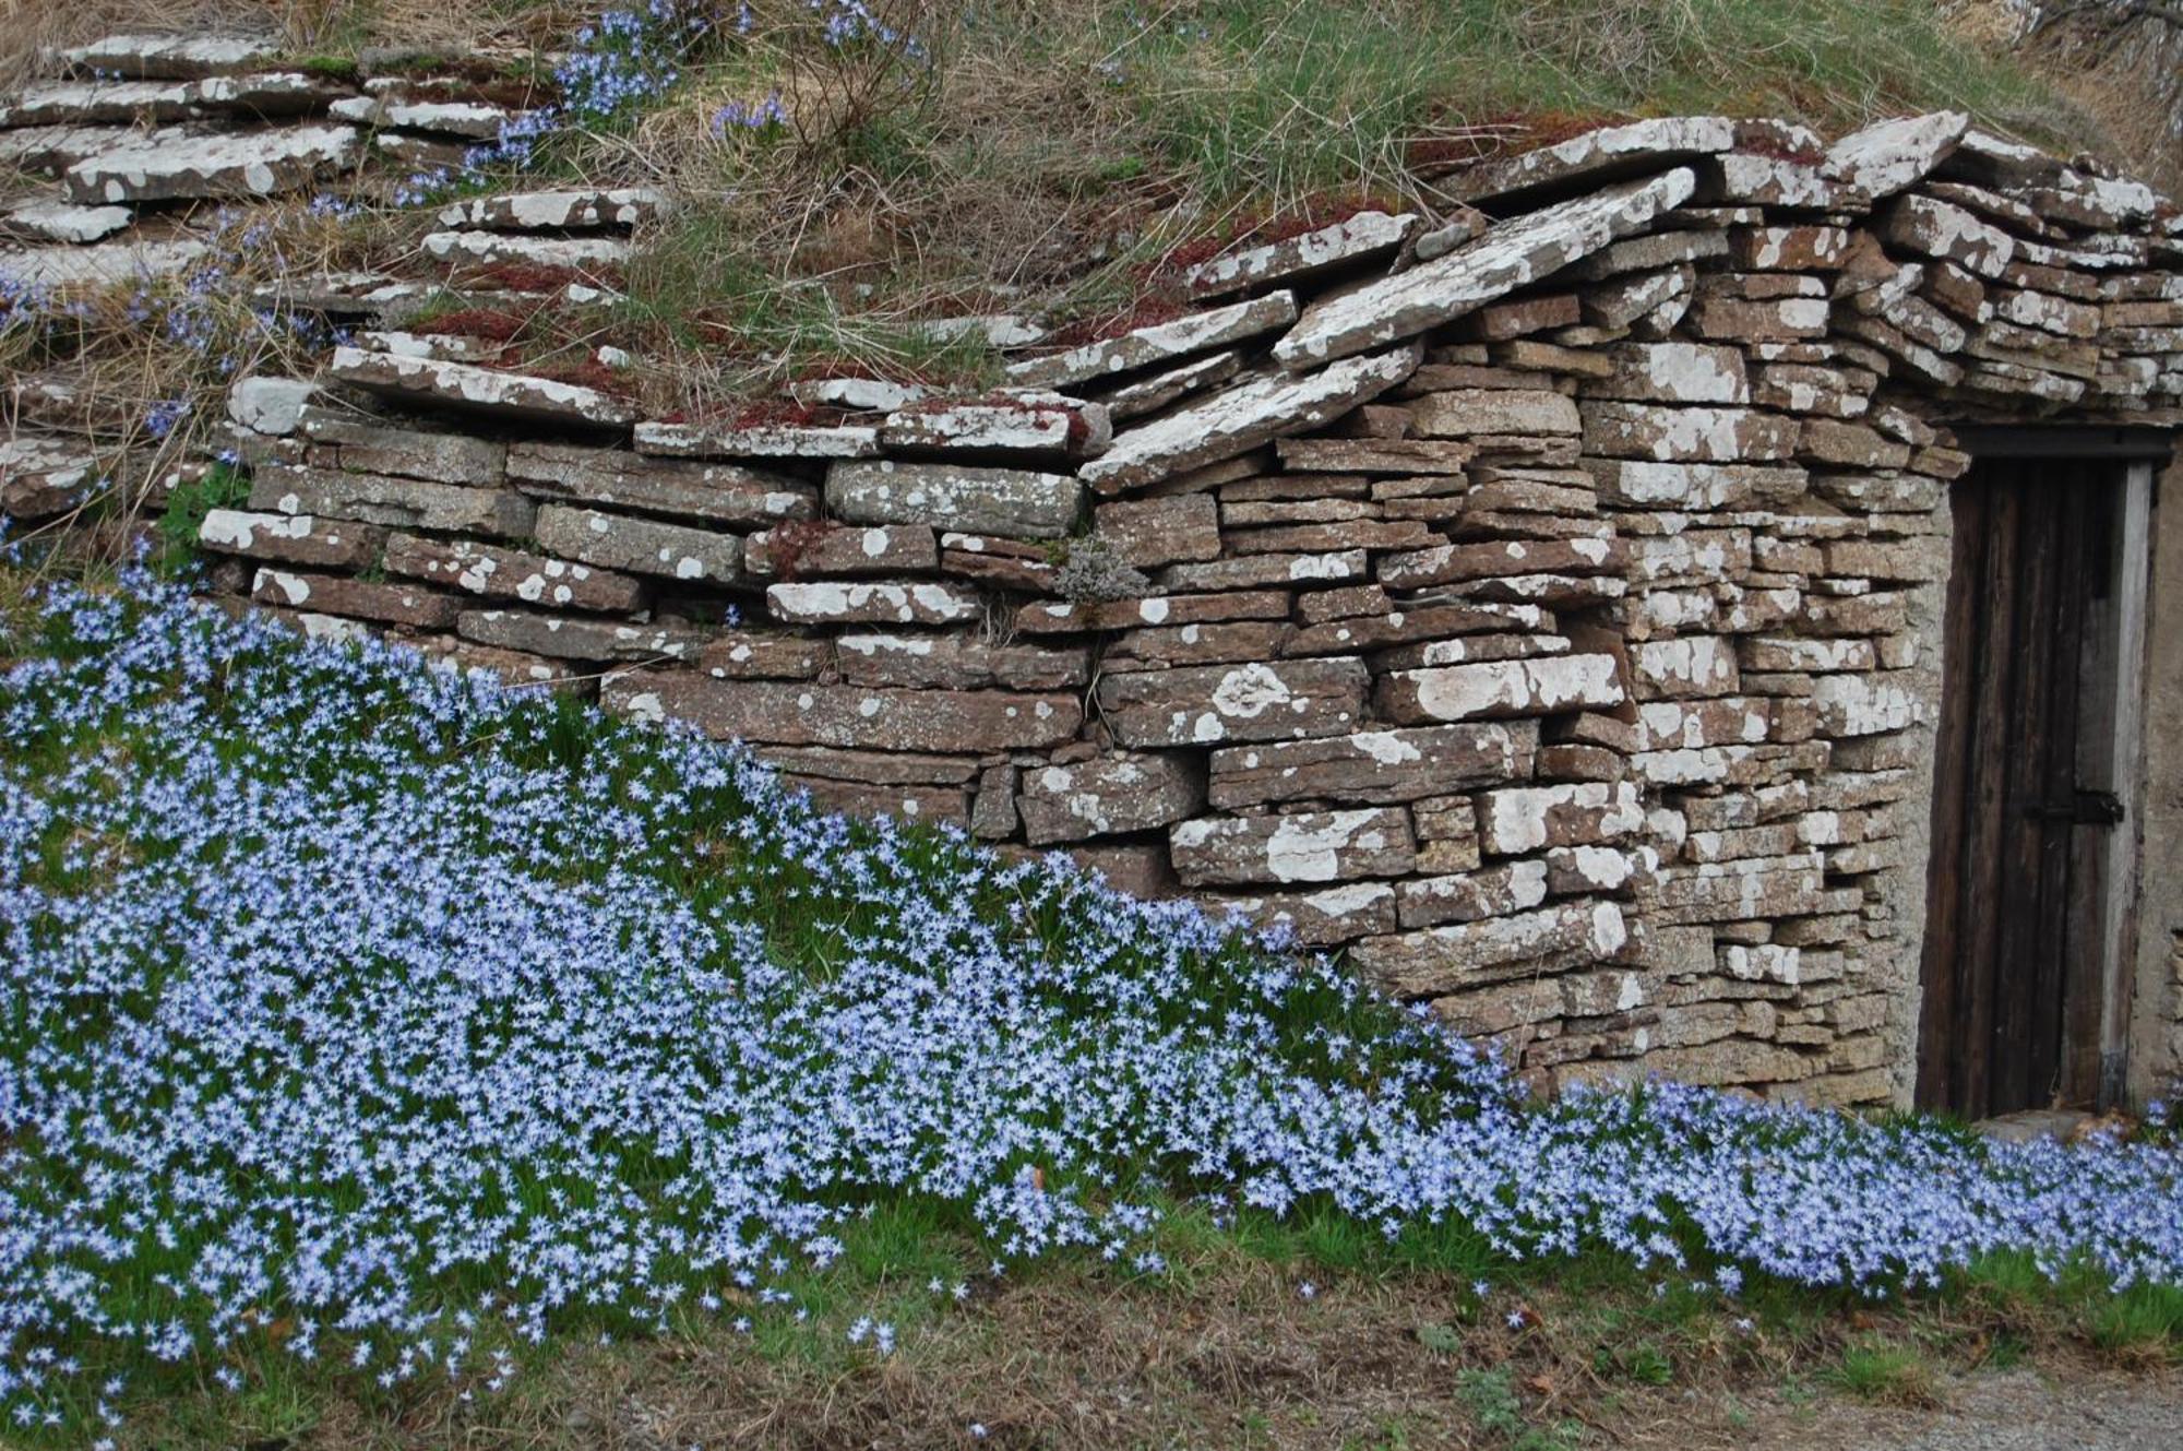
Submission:
[[[275,1322],[386,1385],[496,1388],[489,1346],[574,1324],[797,1316],[790,1272],[902,1202],[1004,1267],[1157,1272],[1157,1204],[1203,1198],[1731,1294],[1995,1252],[2183,1281],[2161,1143],[1670,1086],[1526,1106],[1190,907],[146,583],[48,588],[0,660],[9,1425],[238,1381]]]

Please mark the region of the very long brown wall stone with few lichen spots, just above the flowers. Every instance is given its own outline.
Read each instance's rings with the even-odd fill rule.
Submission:
[[[712,680],[690,671],[627,671],[600,686],[609,710],[690,721],[718,741],[843,750],[1046,750],[1083,726],[1074,695],[1009,691],[878,691],[779,680]]]

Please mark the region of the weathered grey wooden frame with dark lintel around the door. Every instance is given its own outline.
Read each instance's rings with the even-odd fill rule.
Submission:
[[[2144,828],[2144,715],[2146,715],[2146,616],[2152,581],[2152,509],[2155,479],[2174,450],[2174,435],[2163,428],[2128,426],[1956,426],[1956,446],[1980,457],[2067,459],[2076,463],[2107,461],[2120,465],[2122,496],[2115,509],[2115,551],[2104,607],[2087,618],[2093,640],[2080,671],[2080,719],[2111,721],[2111,730],[2078,732],[2080,778],[2107,778],[2122,802],[2124,817],[2115,830],[2093,833],[2096,841],[2080,846],[2078,865],[2098,876],[2098,894],[2087,907],[2085,927],[2098,942],[2098,1080],[2096,1108],[2122,1101],[2128,1080],[2131,996],[2137,977],[2137,868],[2139,833]],[[1954,570],[1952,570],[1954,573]],[[1956,579],[1943,581],[1943,599],[1956,590]],[[1943,651],[1945,653],[1945,651]],[[1941,671],[1949,669],[1941,660]],[[1943,686],[1945,688],[1945,686]],[[1939,736],[1934,765],[1939,767]],[[1928,903],[1925,911],[1932,907]],[[1925,922],[1919,924],[1921,935]],[[1919,955],[1919,1016],[1923,1018],[1925,975]],[[2087,1034],[2089,1036],[2089,1034]],[[1923,1031],[1912,1038],[1912,1051],[1923,1055]],[[2069,1045],[2065,1040],[2067,1055]],[[1923,1075],[1923,1062],[1912,1064],[1912,1080]]]

